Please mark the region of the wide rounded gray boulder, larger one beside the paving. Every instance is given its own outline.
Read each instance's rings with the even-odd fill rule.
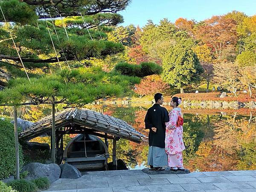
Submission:
[[[32,180],[38,177],[47,177],[50,183],[58,180],[61,175],[61,168],[55,164],[29,163],[23,167],[22,172],[28,171],[26,179]]]

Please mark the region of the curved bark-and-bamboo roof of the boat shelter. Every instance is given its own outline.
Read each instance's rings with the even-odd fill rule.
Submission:
[[[131,125],[121,119],[84,108],[69,108],[55,114],[56,130],[58,128],[74,125],[80,125],[85,128],[121,137],[136,143],[140,143],[143,138],[146,138],[143,134],[136,131]],[[52,116],[49,115],[23,130],[19,134],[19,138],[30,140],[46,134],[51,130]]]

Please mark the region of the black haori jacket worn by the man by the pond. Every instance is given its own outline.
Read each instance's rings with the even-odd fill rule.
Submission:
[[[165,148],[165,122],[169,122],[169,115],[166,108],[161,107],[159,104],[154,104],[148,109],[144,122],[145,129],[149,129],[149,146]],[[152,127],[157,128],[157,132],[152,131]]]

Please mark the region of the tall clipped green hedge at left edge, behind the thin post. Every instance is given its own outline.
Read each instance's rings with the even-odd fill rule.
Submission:
[[[14,126],[9,120],[0,120],[0,179],[15,175]],[[23,153],[19,146],[20,168],[23,166]]]

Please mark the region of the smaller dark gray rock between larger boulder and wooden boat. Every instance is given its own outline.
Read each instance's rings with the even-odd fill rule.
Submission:
[[[70,164],[61,164],[61,176],[60,178],[66,178],[66,179],[77,179],[82,176],[81,172],[76,169],[76,167],[70,165]]]

